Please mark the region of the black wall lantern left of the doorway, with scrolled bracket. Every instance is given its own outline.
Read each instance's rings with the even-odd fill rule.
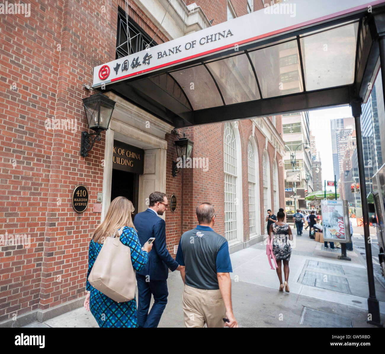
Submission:
[[[88,128],[95,131],[92,134],[82,131],[80,156],[86,157],[88,156],[88,151],[94,146],[95,141],[100,141],[100,132],[108,129],[115,101],[112,101],[112,99],[109,99],[104,94],[98,93],[84,98],[83,104]]]

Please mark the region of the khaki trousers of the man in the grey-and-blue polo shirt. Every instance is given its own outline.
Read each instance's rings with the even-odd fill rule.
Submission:
[[[223,328],[226,309],[221,291],[196,289],[184,285],[182,294],[184,327]]]

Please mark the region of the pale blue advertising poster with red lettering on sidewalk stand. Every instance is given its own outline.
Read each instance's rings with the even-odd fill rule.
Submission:
[[[329,242],[350,242],[350,224],[344,200],[321,200],[323,239]]]

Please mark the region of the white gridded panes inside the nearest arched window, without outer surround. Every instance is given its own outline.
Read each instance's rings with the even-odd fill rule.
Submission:
[[[231,123],[224,126],[223,134],[224,165],[224,236],[226,240],[237,238],[237,158],[234,129]]]

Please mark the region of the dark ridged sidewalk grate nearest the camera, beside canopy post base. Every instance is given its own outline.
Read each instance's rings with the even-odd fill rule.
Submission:
[[[300,324],[316,328],[353,328],[352,319],[329,312],[303,307]]]

